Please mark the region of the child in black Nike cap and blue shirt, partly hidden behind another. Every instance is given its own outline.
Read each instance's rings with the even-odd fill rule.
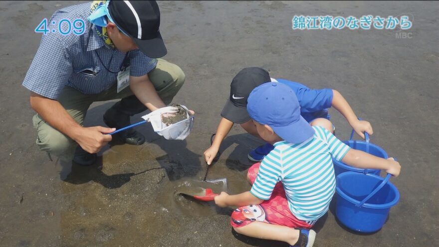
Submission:
[[[298,82],[271,78],[268,72],[262,68],[249,67],[240,70],[230,84],[230,97],[221,111],[221,121],[215,139],[204,152],[208,165],[218,156],[219,146],[234,123],[240,124],[245,131],[260,138],[247,113],[247,98],[251,90],[269,81],[285,84],[294,91],[301,106],[301,115],[311,126],[320,125],[333,132],[332,123],[329,121],[331,116],[327,110],[327,108],[333,107],[346,118],[360,137],[364,138],[364,132],[369,135],[373,134],[371,124],[358,120],[349,103],[337,90],[330,88],[310,89]],[[259,162],[273,148],[269,143],[264,144],[250,151],[247,157],[253,162]]]

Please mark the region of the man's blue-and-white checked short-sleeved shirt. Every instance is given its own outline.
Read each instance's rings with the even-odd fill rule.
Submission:
[[[58,31],[43,35],[24,77],[22,85],[25,88],[50,99],[57,99],[64,86],[84,94],[96,94],[116,83],[122,63],[131,65],[131,76],[145,75],[156,67],[157,59],[140,50],[127,54],[106,45],[98,36],[96,26],[87,20],[90,5],[91,2],[73,5],[53,13],[48,30],[57,30],[61,19],[73,21],[77,18],[85,21],[86,29],[79,36],[74,33],[62,35]]]

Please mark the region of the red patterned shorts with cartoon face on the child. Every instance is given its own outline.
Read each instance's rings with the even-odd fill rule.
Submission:
[[[248,169],[247,176],[251,184],[253,184],[256,179],[259,165],[260,163],[256,163]],[[246,226],[254,221],[291,228],[307,229],[310,229],[315,223],[299,220],[291,213],[281,182],[277,183],[274,187],[270,199],[263,201],[259,205],[237,208],[233,211],[230,218],[230,224],[234,228]]]

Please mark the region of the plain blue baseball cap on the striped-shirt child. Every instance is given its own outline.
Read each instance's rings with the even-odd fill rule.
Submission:
[[[247,112],[289,143],[304,142],[315,132],[300,115],[296,94],[282,83],[267,82],[253,89],[247,100]]]

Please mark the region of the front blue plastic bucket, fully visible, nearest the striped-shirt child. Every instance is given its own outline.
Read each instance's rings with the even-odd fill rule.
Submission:
[[[399,199],[398,189],[374,174],[345,172],[337,176],[336,217],[347,228],[372,233],[380,230],[389,215],[390,208]]]

